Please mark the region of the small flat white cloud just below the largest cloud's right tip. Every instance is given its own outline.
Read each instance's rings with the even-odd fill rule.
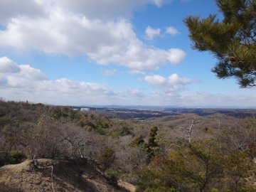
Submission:
[[[181,90],[183,86],[196,82],[196,80],[181,78],[176,73],[169,75],[168,78],[165,78],[161,75],[146,75],[144,77],[144,81],[159,87],[166,93],[174,93],[178,90]]]

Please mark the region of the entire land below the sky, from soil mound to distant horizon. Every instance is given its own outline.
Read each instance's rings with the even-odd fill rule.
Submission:
[[[1,100],[0,186],[24,192],[254,191],[254,113]]]

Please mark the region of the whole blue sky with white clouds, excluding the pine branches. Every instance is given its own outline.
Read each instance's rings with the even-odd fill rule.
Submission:
[[[0,97],[53,105],[256,107],[183,19],[215,0],[0,0]]]

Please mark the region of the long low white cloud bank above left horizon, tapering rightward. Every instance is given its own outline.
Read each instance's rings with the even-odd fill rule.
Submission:
[[[8,60],[9,58],[0,58]],[[106,85],[96,82],[78,82],[60,78],[50,80],[45,74],[30,65],[18,65],[15,73],[0,71],[0,97],[9,100],[29,100],[58,105],[107,105],[115,102],[131,101],[143,97],[139,89],[126,88],[114,91]]]

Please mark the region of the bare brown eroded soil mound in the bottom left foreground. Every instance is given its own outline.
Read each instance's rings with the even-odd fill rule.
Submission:
[[[38,159],[40,167],[53,166],[53,182],[51,169],[38,169],[33,161],[21,164],[6,165],[0,168],[1,191],[11,192],[117,192],[126,191],[110,182],[95,170],[85,159],[76,161],[57,161]]]

